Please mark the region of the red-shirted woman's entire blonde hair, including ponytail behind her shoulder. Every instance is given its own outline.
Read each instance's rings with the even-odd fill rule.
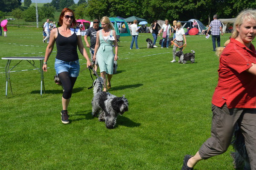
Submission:
[[[238,16],[236,17],[236,20],[233,24],[234,28],[233,28],[233,33],[231,35],[231,38],[236,38],[239,35],[239,31],[236,30],[236,28],[239,28],[244,22],[246,21],[251,21],[254,20],[256,21],[256,10],[254,9],[245,9],[244,11],[241,11]],[[224,43],[224,47],[218,47],[216,48],[216,55],[218,57],[221,56],[222,51],[224,50],[225,46],[227,46],[227,44],[230,42],[230,40],[227,40]]]

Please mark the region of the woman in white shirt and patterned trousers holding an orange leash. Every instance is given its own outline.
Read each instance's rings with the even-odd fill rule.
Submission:
[[[181,23],[178,22],[176,26],[177,26],[177,29],[176,29],[176,33],[175,33],[175,39],[172,42],[174,42],[179,47],[181,47],[183,45],[183,39],[185,41],[184,45],[187,44],[187,40],[186,40],[186,37],[185,37],[184,29],[181,28]],[[179,48],[180,51],[182,50],[182,48],[183,47]],[[173,60],[171,62],[176,62],[176,60],[175,60],[175,58],[176,58],[176,56],[175,56],[176,49],[177,49],[177,46],[173,45]]]

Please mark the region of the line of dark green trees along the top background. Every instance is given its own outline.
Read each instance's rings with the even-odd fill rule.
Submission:
[[[25,6],[31,0],[24,0]],[[35,21],[35,7],[21,8],[21,0],[0,0],[0,14],[12,11],[16,17],[24,17],[26,21]],[[39,8],[39,19],[54,17],[55,11],[68,7],[75,11],[77,19],[89,17],[101,19],[109,17],[130,17],[135,15],[151,23],[153,20],[198,19],[205,25],[213,20],[213,15],[219,18],[233,18],[245,8],[256,8],[252,0],[52,0]],[[15,11],[16,10],[16,11]],[[18,15],[19,14],[19,15]],[[20,15],[22,14],[22,15]],[[14,16],[14,17],[15,17]]]

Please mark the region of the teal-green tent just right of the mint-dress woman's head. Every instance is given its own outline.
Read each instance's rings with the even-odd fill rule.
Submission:
[[[110,17],[109,20],[111,21],[111,23],[114,23],[113,25],[117,35],[120,35],[120,37],[131,35],[128,24],[127,22],[125,22],[125,20],[122,20],[118,17]],[[124,27],[122,27],[123,24]]]

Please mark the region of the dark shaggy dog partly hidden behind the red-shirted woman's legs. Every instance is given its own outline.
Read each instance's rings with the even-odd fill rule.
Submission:
[[[230,153],[235,168],[237,170],[250,170],[250,160],[246,151],[244,136],[237,123],[231,144],[235,150],[235,152]]]

